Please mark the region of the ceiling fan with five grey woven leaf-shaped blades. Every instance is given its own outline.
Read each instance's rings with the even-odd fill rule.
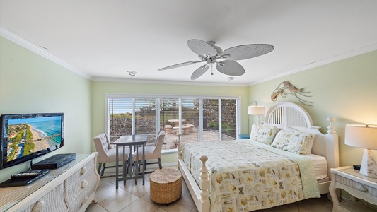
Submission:
[[[167,66],[159,71],[167,69],[175,69],[182,66],[187,66],[190,64],[197,64],[200,62],[206,62],[203,66],[200,66],[191,75],[191,80],[195,80],[202,76],[209,67],[216,64],[216,68],[221,73],[230,76],[241,76],[245,73],[245,69],[235,60],[250,59],[253,57],[258,57],[263,54],[267,54],[274,50],[273,45],[269,44],[251,44],[251,45],[240,45],[236,47],[231,47],[223,51],[220,47],[215,46],[215,42],[209,41],[204,42],[202,40],[192,39],[187,41],[188,47],[198,54],[198,61],[187,61],[181,64],[175,64],[173,66]],[[219,61],[218,61],[219,60]],[[213,75],[214,73],[211,73]]]

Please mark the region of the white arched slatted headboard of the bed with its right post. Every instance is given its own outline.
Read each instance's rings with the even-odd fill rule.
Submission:
[[[327,119],[330,125],[327,134],[319,131],[320,126],[313,126],[313,121],[303,107],[292,102],[278,102],[269,108],[265,116],[265,125],[274,125],[279,129],[285,126],[315,134],[312,152],[327,159],[327,176],[330,177],[330,168],[339,167],[339,143],[335,127],[332,126],[334,118]]]

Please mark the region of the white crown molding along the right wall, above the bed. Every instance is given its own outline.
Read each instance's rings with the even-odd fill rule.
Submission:
[[[310,64],[306,64],[304,66],[302,66],[301,68],[298,68],[298,69],[294,69],[292,71],[288,71],[286,73],[282,73],[282,74],[278,74],[278,75],[275,75],[275,76],[272,76],[272,77],[269,77],[269,78],[264,78],[260,81],[255,81],[255,82],[252,82],[252,83],[249,83],[248,86],[254,86],[254,85],[257,85],[259,83],[264,83],[264,82],[267,82],[267,81],[271,81],[275,78],[280,78],[282,76],[288,76],[292,73],[297,73],[297,72],[300,72],[300,71],[306,71],[308,69],[313,69],[315,67],[318,67],[318,66],[323,66],[325,64],[330,64],[330,63],[333,63],[335,61],[340,61],[342,59],[347,59],[349,57],[355,57],[357,55],[360,55],[360,54],[364,54],[364,53],[368,53],[368,52],[372,52],[372,51],[375,51],[377,50],[377,43],[375,44],[372,44],[372,45],[369,45],[369,46],[366,46],[366,47],[362,47],[362,48],[359,48],[359,49],[355,49],[351,52],[346,52],[346,53],[342,53],[342,54],[338,54],[338,55],[335,55],[334,57],[330,57],[330,58],[326,58],[326,59],[321,59],[321,60],[318,60],[318,61],[314,61]]]

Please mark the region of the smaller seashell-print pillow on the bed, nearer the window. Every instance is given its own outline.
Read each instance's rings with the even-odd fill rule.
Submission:
[[[251,126],[250,139],[270,145],[274,141],[278,128],[276,126],[256,125]]]

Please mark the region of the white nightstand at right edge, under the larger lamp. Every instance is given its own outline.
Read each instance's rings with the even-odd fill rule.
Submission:
[[[335,189],[343,189],[351,194],[352,201],[339,202]],[[376,211],[369,206],[356,201],[356,198],[377,205],[377,178],[360,175],[353,167],[338,167],[331,169],[330,195],[335,211]]]

